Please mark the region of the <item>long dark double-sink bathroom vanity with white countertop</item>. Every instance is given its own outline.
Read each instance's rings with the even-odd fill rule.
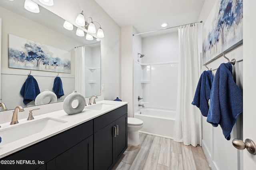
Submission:
[[[45,137],[46,132],[39,132],[26,137],[29,140],[29,138],[40,138],[38,136],[41,135],[42,140],[38,139],[31,145],[23,144],[16,148],[18,151],[14,150],[14,152],[8,147],[15,142],[18,144],[19,140],[0,145],[0,156],[2,156],[0,169],[112,169],[127,148],[127,102],[115,103],[116,105],[111,102],[112,105],[108,108],[104,108],[103,104],[99,103],[100,107],[97,104],[96,108],[91,105],[88,109],[85,107],[83,113],[76,115],[63,115],[66,113],[57,111],[54,115],[67,122],[52,130],[48,129],[54,135]],[[78,120],[80,123],[77,123]],[[69,127],[65,127],[65,124]],[[20,141],[26,142],[25,139]],[[2,149],[9,150],[7,156],[3,156],[5,154],[2,154]]]

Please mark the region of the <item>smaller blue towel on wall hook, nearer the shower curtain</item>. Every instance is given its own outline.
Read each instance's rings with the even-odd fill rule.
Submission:
[[[213,76],[211,71],[204,71],[201,74],[196,87],[194,100],[192,101],[192,105],[196,105],[196,107],[200,109],[202,115],[205,117],[207,117],[209,110],[208,101],[210,99],[212,89],[212,80]]]

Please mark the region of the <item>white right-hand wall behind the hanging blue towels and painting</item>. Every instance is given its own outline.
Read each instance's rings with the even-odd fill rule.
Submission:
[[[203,23],[207,20],[208,15],[210,14],[212,7],[217,0],[205,1],[202,11],[200,13],[199,20],[202,20]],[[202,44],[201,44],[202,45]],[[202,50],[201,50],[202,52]],[[239,87],[242,89],[242,59],[243,59],[243,46],[239,46],[236,49],[230,51],[226,54],[226,57],[229,59],[235,58],[238,62],[233,66],[234,76],[236,75],[236,82]],[[224,57],[220,57],[208,64],[207,66],[212,69],[219,67],[221,63],[227,63],[227,60]],[[206,67],[202,66],[202,70],[206,70]],[[213,73],[215,73],[213,71]],[[212,127],[210,123],[206,122],[206,117],[202,117],[202,148],[210,166],[213,170],[238,170],[241,167],[242,163],[240,161],[240,151],[238,151],[234,146],[232,146],[232,139],[237,138],[241,135],[242,127],[238,123],[233,127],[231,132],[231,139],[226,140],[222,134],[222,129],[220,126]]]

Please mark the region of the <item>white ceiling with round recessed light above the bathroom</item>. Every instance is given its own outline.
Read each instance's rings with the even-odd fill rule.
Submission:
[[[166,28],[198,22],[205,0],[95,1],[120,27],[134,26],[138,33],[144,33],[163,29],[165,22],[169,24]]]

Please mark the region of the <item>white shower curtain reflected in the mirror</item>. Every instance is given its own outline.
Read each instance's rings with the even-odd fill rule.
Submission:
[[[75,48],[75,90],[85,97],[85,47]]]

